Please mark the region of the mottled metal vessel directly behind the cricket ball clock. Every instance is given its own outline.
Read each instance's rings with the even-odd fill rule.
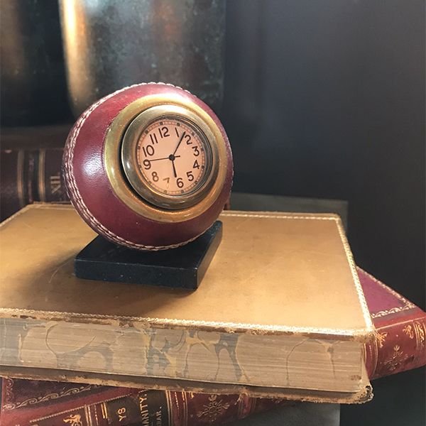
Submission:
[[[224,0],[60,0],[72,110],[140,82],[222,101]]]

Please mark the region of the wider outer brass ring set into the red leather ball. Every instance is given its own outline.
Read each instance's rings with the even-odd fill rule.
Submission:
[[[210,139],[209,135],[206,136],[209,138],[212,152],[213,150],[217,152],[216,179],[212,180],[211,186],[202,200],[184,209],[162,209],[138,197],[126,180],[121,165],[121,143],[129,124],[142,111],[159,105],[182,107],[190,111],[190,113],[195,114],[197,120],[200,120],[203,126],[207,126],[207,133],[210,133],[210,137],[212,138]],[[131,102],[111,122],[105,136],[104,167],[114,194],[132,209],[133,212],[157,222],[184,222],[200,216],[200,214],[209,209],[217,200],[224,187],[228,167],[227,163],[226,141],[217,124],[202,107],[190,101],[190,99],[180,97],[178,94],[153,94]]]

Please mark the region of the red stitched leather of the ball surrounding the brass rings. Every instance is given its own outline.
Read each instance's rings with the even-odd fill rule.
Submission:
[[[173,224],[146,219],[119,200],[111,188],[103,162],[104,138],[111,121],[121,109],[136,99],[148,94],[160,93],[178,94],[180,97],[191,99],[207,111],[222,131],[228,151],[226,182],[216,202],[199,217]],[[158,247],[180,244],[202,234],[222,212],[232,184],[231,149],[217,116],[200,99],[169,84],[138,84],[116,92],[107,100],[104,99],[101,99],[96,107],[92,106],[82,114],[70,132],[65,146],[65,182],[72,204],[77,211],[99,234],[135,249],[143,249],[138,245]],[[72,155],[70,143],[75,132],[78,134]],[[75,185],[72,185],[72,176],[75,179]],[[97,220],[92,220],[92,217]],[[120,239],[115,239],[114,235]]]

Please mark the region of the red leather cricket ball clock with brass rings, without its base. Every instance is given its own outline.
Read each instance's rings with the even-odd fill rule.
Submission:
[[[171,249],[222,212],[232,184],[228,138],[214,112],[171,84],[136,84],[84,111],[65,146],[72,204],[116,244]]]

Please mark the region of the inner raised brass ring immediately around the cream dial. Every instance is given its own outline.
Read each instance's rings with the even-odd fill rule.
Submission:
[[[153,122],[160,119],[175,119],[185,122],[194,131],[199,133],[202,146],[204,147],[205,163],[208,167],[205,169],[204,176],[197,187],[193,188],[187,194],[166,195],[156,190],[155,187],[149,185],[138,165],[137,146],[141,135],[148,126],[151,126]],[[214,141],[214,135],[209,129],[209,126],[200,119],[200,116],[197,116],[190,110],[172,104],[157,105],[145,109],[131,121],[131,124],[129,124],[129,127],[124,133],[121,144],[121,163],[124,173],[133,190],[151,204],[165,209],[191,207],[204,198],[204,195],[207,194],[217,176],[217,146],[216,144],[212,146],[212,143],[209,141]]]

